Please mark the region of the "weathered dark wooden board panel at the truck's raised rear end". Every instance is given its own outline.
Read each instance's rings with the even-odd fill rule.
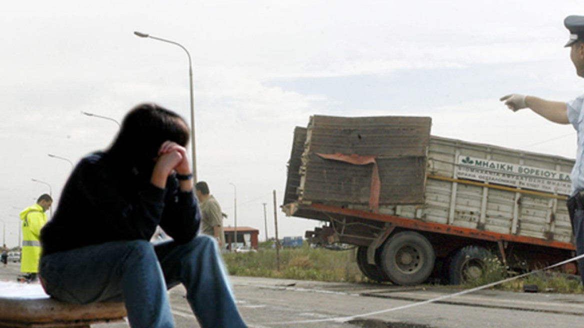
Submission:
[[[429,117],[313,116],[301,173],[301,201],[368,204],[374,164],[322,159],[318,153],[376,156],[379,204],[422,204]],[[288,189],[287,189],[288,191]]]

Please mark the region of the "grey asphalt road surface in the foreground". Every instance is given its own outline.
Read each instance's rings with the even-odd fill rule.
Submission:
[[[0,265],[0,280],[15,281],[19,264]],[[231,277],[250,327],[550,328],[582,327],[584,295],[327,283]],[[1,294],[1,291],[0,291]],[[176,327],[199,327],[182,287],[170,292]],[[446,297],[446,298],[443,298]],[[428,300],[443,298],[437,302]],[[425,303],[424,303],[425,302]],[[367,313],[375,314],[359,317]],[[127,323],[99,328],[127,328]]]

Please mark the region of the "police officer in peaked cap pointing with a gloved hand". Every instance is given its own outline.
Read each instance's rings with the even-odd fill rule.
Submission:
[[[576,74],[584,78],[584,16],[568,16],[564,20],[570,39],[570,59]],[[559,124],[572,124],[578,132],[578,151],[572,169],[572,197],[568,200],[568,210],[572,219],[572,229],[576,240],[576,252],[584,253],[584,95],[567,103],[555,102],[534,96],[513,93],[500,99],[512,111],[529,108],[547,120]],[[582,198],[580,198],[582,193]],[[584,284],[584,260],[578,261],[578,269]]]

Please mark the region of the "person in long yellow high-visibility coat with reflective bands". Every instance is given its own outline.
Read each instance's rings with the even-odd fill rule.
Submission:
[[[42,194],[37,203],[20,212],[22,220],[22,256],[20,257],[20,272],[25,274],[26,282],[33,282],[39,273],[41,254],[40,229],[47,223],[45,213],[53,204],[53,198]]]

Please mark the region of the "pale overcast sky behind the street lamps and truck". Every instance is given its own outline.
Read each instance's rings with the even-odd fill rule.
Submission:
[[[580,12],[578,12],[580,11]],[[103,149],[128,109],[156,102],[189,119],[193,58],[197,171],[234,224],[274,235],[294,127],[312,114],[430,116],[432,134],[575,154],[575,133],[499,103],[569,100],[584,89],[563,48],[581,1],[12,1],[0,12],[0,220],[58,200],[71,165]],[[286,218],[279,236],[317,221]],[[91,228],[82,222],[80,229]],[[2,223],[2,222],[0,222]],[[96,224],[96,222],[92,222]],[[4,225],[0,225],[2,227]],[[2,237],[3,235],[0,235]]]

